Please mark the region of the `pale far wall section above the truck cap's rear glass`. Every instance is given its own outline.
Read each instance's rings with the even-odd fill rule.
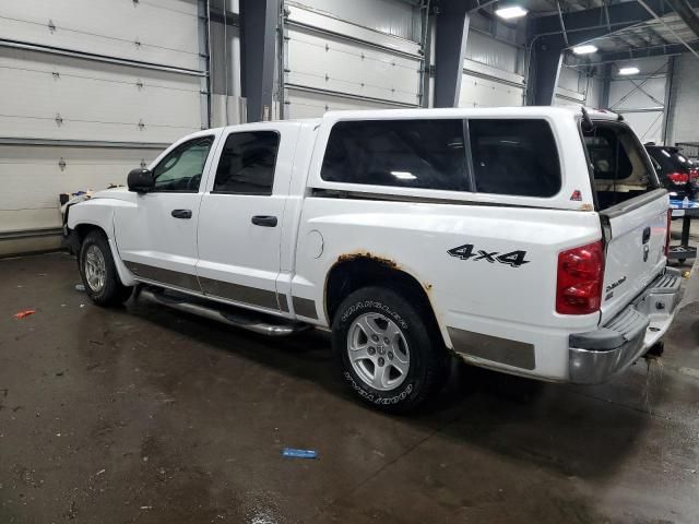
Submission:
[[[663,143],[667,61],[667,57],[621,61],[612,70],[609,109],[623,115],[643,143]],[[625,66],[635,66],[640,72],[619,75]]]

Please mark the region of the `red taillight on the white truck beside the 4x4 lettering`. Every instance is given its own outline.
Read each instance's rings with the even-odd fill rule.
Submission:
[[[602,305],[604,249],[602,240],[558,253],[556,311],[589,314]]]

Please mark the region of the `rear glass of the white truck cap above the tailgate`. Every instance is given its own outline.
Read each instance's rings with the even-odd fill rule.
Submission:
[[[597,122],[583,138],[600,210],[659,187],[643,146],[626,126]]]

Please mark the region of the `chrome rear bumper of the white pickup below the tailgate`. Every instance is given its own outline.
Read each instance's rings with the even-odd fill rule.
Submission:
[[[679,271],[666,267],[614,319],[588,333],[570,335],[570,382],[605,382],[638,360],[665,334],[683,290]]]

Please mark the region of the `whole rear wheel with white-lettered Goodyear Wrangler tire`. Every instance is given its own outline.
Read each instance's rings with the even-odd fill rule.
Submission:
[[[333,350],[350,388],[389,413],[424,404],[445,384],[448,370],[431,311],[406,296],[381,287],[358,289],[343,300],[332,323]]]

